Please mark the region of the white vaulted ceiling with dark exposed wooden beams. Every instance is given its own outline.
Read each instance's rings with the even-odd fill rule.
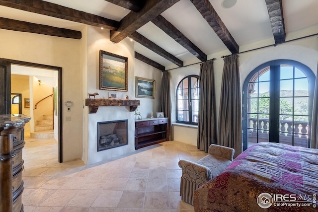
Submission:
[[[135,58],[164,71],[317,34],[317,8],[318,0],[0,0],[0,28],[81,39],[84,24],[103,27],[114,43],[133,39]]]

